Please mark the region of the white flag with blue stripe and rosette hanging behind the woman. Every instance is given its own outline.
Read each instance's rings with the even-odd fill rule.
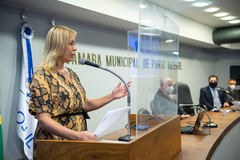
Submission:
[[[28,112],[30,99],[29,82],[33,74],[31,39],[33,30],[31,26],[24,23],[22,26],[23,58],[21,68],[21,82],[19,91],[17,134],[23,141],[24,153],[28,159],[33,158],[33,137],[37,120]]]

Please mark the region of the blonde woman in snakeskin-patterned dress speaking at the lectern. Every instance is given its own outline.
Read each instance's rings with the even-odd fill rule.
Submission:
[[[38,119],[34,135],[34,158],[38,139],[94,141],[96,135],[87,131],[86,112],[127,95],[126,87],[121,87],[119,82],[111,94],[87,99],[77,74],[64,66],[72,61],[77,50],[76,36],[76,31],[64,26],[51,28],[42,62],[31,79],[29,112]],[[129,87],[130,83],[127,83]]]

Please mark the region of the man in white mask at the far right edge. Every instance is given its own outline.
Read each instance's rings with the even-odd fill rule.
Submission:
[[[228,94],[229,104],[233,105],[233,101],[239,101],[240,95],[236,90],[237,81],[235,79],[230,79],[228,81],[228,87],[226,88],[226,92]]]

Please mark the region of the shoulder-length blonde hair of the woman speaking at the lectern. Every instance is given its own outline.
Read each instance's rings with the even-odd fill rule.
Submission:
[[[69,40],[76,36],[77,32],[68,27],[52,27],[46,37],[44,54],[39,67],[52,70],[57,64],[58,57],[64,53]]]

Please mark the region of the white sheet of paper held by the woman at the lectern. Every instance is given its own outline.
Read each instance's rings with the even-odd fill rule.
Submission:
[[[108,111],[98,125],[98,127],[96,128],[95,132],[93,132],[92,134],[99,136],[102,132],[104,132],[106,129],[108,129],[118,120],[120,120],[129,111],[129,109],[130,107],[123,107]]]

